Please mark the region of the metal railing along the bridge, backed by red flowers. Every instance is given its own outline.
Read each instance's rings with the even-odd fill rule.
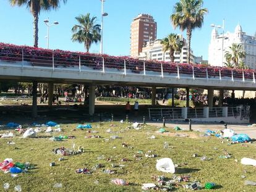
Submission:
[[[8,64],[22,62],[33,67],[50,67],[53,70],[66,69],[79,72],[93,70],[102,73],[124,75],[153,75],[218,81],[247,81],[255,83],[254,70],[228,69],[203,65],[175,64],[171,62],[141,61],[130,57],[30,48],[0,43],[0,60]]]

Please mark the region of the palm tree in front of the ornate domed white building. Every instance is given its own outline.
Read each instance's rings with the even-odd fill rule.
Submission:
[[[225,52],[226,61],[231,62],[234,67],[239,68],[239,63],[242,62],[246,56],[246,52],[242,48],[242,44],[233,43],[229,49],[230,51]],[[244,67],[243,64],[241,66]]]

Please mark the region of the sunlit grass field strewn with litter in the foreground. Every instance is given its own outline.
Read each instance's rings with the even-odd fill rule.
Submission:
[[[79,122],[81,123],[81,122]],[[84,122],[86,123],[86,122]],[[152,183],[152,175],[164,175],[173,177],[171,173],[158,172],[156,170],[156,159],[169,157],[174,164],[178,164],[176,175],[191,175],[191,182],[200,181],[215,182],[218,185],[214,191],[255,191],[256,186],[244,186],[244,180],[256,180],[256,169],[251,166],[241,165],[242,157],[256,158],[255,143],[228,145],[228,141],[214,137],[200,137],[200,133],[193,132],[190,137],[183,137],[190,133],[181,131],[179,136],[159,135],[155,133],[159,128],[149,125],[140,130],[127,128],[129,124],[92,123],[92,130],[98,133],[87,133],[87,130],[74,129],[77,124],[61,124],[64,130],[62,133],[39,133],[37,138],[20,138],[16,133],[14,138],[0,138],[0,159],[14,159],[14,162],[30,162],[35,164],[36,169],[29,170],[28,173],[21,173],[19,177],[12,178],[10,173],[0,172],[0,191],[4,191],[2,185],[10,184],[9,191],[14,191],[15,185],[20,185],[22,191],[142,191],[142,183]],[[114,133],[107,133],[111,129]],[[6,130],[1,130],[4,133]],[[174,133],[169,130],[169,133]],[[76,139],[66,141],[51,141],[49,137],[53,135],[74,135]],[[85,138],[88,135],[100,135],[102,138]],[[119,139],[111,140],[110,136],[118,135]],[[147,139],[155,135],[155,139]],[[174,134],[173,134],[174,135]],[[193,137],[193,138],[192,138]],[[105,141],[108,138],[109,141]],[[14,145],[8,145],[7,141],[14,141]],[[168,142],[170,148],[164,149],[164,142]],[[128,144],[132,148],[123,148],[122,143]],[[64,146],[71,148],[83,146],[85,152],[75,156],[65,156],[65,161],[58,161],[59,155],[51,152],[54,148]],[[116,147],[116,148],[114,148]],[[218,148],[218,149],[214,149]],[[221,159],[223,150],[231,154],[230,159]],[[134,154],[142,150],[143,156],[140,161],[135,161]],[[148,150],[153,151],[158,157],[148,158],[144,154]],[[199,157],[192,157],[197,153]],[[105,159],[98,160],[97,157],[104,155]],[[201,161],[200,156],[212,158],[210,161]],[[112,159],[111,162],[106,159]],[[122,158],[130,161],[121,162]],[[235,161],[238,160],[238,162]],[[50,167],[49,163],[55,162],[56,166]],[[123,169],[112,168],[111,164],[125,165]],[[103,164],[105,167],[97,169],[91,175],[75,173],[76,169],[87,167],[92,169],[96,164]],[[108,175],[103,173],[103,169],[113,169],[117,173]],[[241,176],[245,175],[246,178]],[[110,182],[112,178],[122,178],[129,182],[128,186],[116,186]],[[95,181],[98,180],[98,184]],[[55,183],[62,183],[62,188],[54,188]],[[157,183],[155,183],[157,184]],[[186,183],[179,183],[179,185]],[[179,186],[176,191],[187,191]],[[200,190],[208,191],[208,190]]]

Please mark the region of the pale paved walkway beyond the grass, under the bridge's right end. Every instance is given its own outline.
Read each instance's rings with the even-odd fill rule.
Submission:
[[[150,122],[150,125],[155,125],[161,127],[163,123]],[[183,130],[189,130],[188,123],[166,123],[166,127],[174,128],[175,126],[179,126]],[[224,126],[222,124],[203,124],[203,123],[192,123],[192,130],[199,130],[205,132],[206,130],[223,130]],[[228,128],[231,128],[235,131],[235,133],[245,133],[250,136],[250,138],[256,138],[256,127],[248,127],[247,125],[228,125]]]

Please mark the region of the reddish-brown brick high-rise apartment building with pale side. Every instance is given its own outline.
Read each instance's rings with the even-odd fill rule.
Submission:
[[[156,22],[151,15],[140,14],[130,25],[130,56],[137,58],[148,41],[156,39]]]

